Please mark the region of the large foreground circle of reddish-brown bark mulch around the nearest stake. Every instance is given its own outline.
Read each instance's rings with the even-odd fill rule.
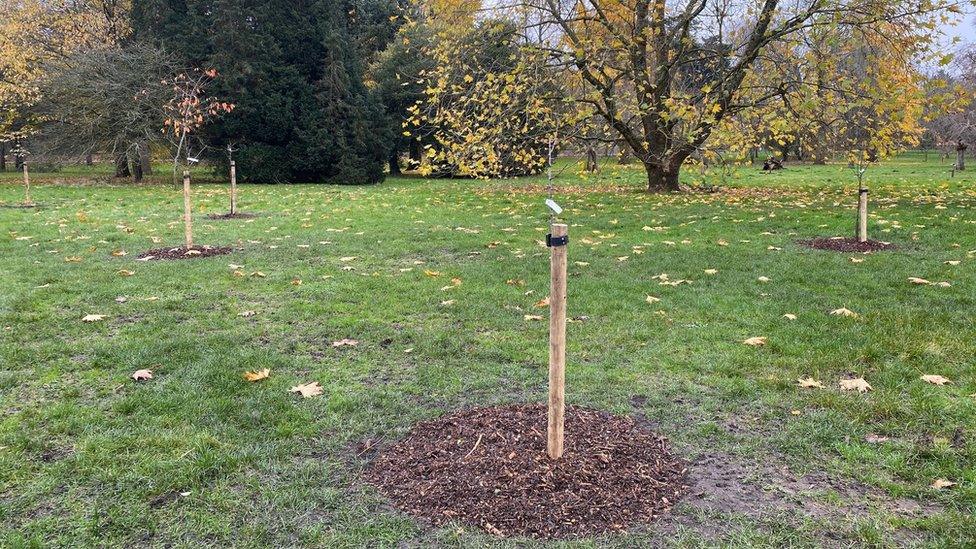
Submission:
[[[566,410],[565,453],[546,454],[546,406],[475,408],[418,424],[382,450],[366,479],[394,506],[435,525],[497,536],[591,536],[669,511],[686,463],[623,416]]]

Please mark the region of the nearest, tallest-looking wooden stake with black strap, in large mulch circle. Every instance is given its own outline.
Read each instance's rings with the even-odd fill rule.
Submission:
[[[552,226],[553,239],[568,234],[566,225]],[[553,246],[549,291],[549,428],[547,451],[563,455],[563,417],[566,411],[566,245]]]

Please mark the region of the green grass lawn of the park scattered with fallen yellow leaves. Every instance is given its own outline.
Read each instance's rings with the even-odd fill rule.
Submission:
[[[872,168],[872,237],[899,249],[857,256],[797,244],[853,235],[842,166],[749,168],[683,195],[639,192],[636,167],[574,171],[556,191],[578,320],[569,403],[643,414],[690,461],[758,467],[750,482],[798,511],[706,516],[693,494],[685,520],[566,545],[976,543],[969,173],[935,155]],[[8,176],[0,202],[15,203]],[[181,244],[175,187],[62,179],[37,178],[38,209],[0,208],[0,545],[544,545],[431,529],[360,478],[363,448],[417,421],[544,401],[548,325],[524,318],[546,315],[544,178],[243,186],[258,217],[231,221],[204,217],[226,210],[226,185],[198,185],[197,243],[240,249],[149,263],[135,257]],[[842,307],[859,316],[829,314]],[[756,336],[767,344],[742,344]],[[331,345],[343,338],[359,344]],[[269,379],[242,379],[261,368]],[[134,382],[139,369],[154,378]],[[858,376],[874,390],[838,388]],[[311,381],[321,396],[288,392]],[[785,494],[762,475],[783,468],[839,489]],[[799,511],[811,505],[841,512]]]

